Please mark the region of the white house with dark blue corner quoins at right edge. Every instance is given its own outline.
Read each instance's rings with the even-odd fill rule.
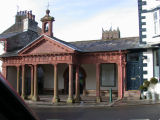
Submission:
[[[151,46],[142,52],[143,80],[159,79],[160,0],[138,0],[138,10],[140,45]]]

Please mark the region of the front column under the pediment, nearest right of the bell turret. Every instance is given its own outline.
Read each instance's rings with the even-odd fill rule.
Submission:
[[[58,96],[58,64],[54,64],[54,97],[53,103],[58,103],[60,101]]]

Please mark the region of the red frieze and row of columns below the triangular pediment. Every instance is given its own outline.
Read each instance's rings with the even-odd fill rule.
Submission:
[[[44,36],[43,36],[44,37]],[[29,48],[26,48],[29,49]],[[24,50],[25,51],[25,50]],[[124,79],[125,79],[125,51],[118,52],[103,52],[103,53],[60,53],[60,54],[29,54],[19,53],[19,56],[12,59],[3,58],[3,74],[6,73],[8,66],[17,67],[17,92],[19,92],[19,76],[22,76],[22,98],[26,98],[25,95],[25,67],[31,67],[31,95],[30,99],[38,100],[38,83],[37,83],[37,66],[48,64],[54,68],[52,72],[54,75],[54,90],[53,90],[53,102],[59,102],[60,98],[58,95],[58,66],[60,64],[67,64],[69,67],[69,87],[68,87],[68,99],[67,102],[73,102],[73,66],[76,66],[76,82],[75,82],[75,100],[80,100],[80,88],[79,88],[79,66],[82,64],[93,64],[96,66],[96,100],[101,101],[100,94],[100,77],[101,77],[101,64],[114,63],[118,68],[118,98],[123,97],[124,92]],[[36,64],[35,64],[36,63]],[[20,68],[22,69],[22,75],[20,75]],[[33,82],[34,81],[34,82]],[[33,87],[34,86],[34,87]]]

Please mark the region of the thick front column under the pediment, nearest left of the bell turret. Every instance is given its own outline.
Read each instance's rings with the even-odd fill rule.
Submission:
[[[38,80],[37,80],[37,65],[34,65],[34,94],[32,97],[33,101],[38,101]]]

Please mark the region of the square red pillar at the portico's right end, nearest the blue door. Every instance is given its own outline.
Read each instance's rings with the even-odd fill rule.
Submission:
[[[118,99],[123,98],[123,69],[122,69],[122,56],[120,56],[120,61],[118,64]]]

